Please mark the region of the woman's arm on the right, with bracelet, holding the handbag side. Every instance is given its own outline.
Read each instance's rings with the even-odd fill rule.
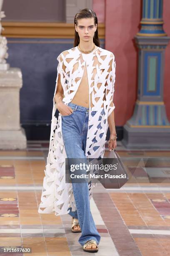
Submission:
[[[110,107],[113,108],[112,112],[110,113],[110,115],[107,118],[108,124],[109,124],[109,129],[110,129],[110,139],[113,139],[116,136],[116,129],[115,129],[115,116],[114,116],[114,109],[115,109],[115,105],[113,103],[113,95],[114,95],[114,85],[115,85],[115,68],[116,68],[116,62],[115,62],[115,56],[113,54],[111,54],[111,61],[109,63],[109,69],[108,72],[111,72],[111,83],[112,83],[112,91],[111,91],[111,96],[112,96],[112,102],[110,104]],[[108,144],[108,148],[109,151],[112,150],[112,148],[116,148],[117,143],[116,140],[111,141]]]

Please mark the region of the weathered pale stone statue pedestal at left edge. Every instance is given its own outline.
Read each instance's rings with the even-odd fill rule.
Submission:
[[[0,149],[25,149],[27,139],[20,126],[20,88],[23,85],[19,68],[0,70]]]

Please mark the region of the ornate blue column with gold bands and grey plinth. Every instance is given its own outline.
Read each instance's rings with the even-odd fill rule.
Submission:
[[[138,46],[138,99],[123,127],[127,148],[170,148],[170,122],[163,102],[165,49],[170,37],[163,30],[163,0],[143,0]]]

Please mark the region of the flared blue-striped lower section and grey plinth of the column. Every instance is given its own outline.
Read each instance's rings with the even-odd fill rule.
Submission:
[[[164,102],[137,100],[133,116],[123,126],[122,144],[127,149],[169,149],[170,122]]]

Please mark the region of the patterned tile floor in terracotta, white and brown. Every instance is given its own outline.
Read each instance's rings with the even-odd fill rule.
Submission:
[[[97,184],[90,207],[101,241],[99,251],[93,255],[170,256],[170,186],[164,179],[170,176],[170,151],[126,150],[121,142],[117,144],[122,158],[166,160],[159,177],[163,182],[150,183],[145,168],[138,164],[121,189],[105,189]],[[37,212],[48,146],[48,141],[28,141],[26,150],[0,151],[0,255],[88,254],[77,242],[80,233],[70,231],[70,215]],[[148,173],[155,173],[152,179],[159,172],[154,162],[148,165]],[[5,246],[31,247],[32,253],[3,253]]]

